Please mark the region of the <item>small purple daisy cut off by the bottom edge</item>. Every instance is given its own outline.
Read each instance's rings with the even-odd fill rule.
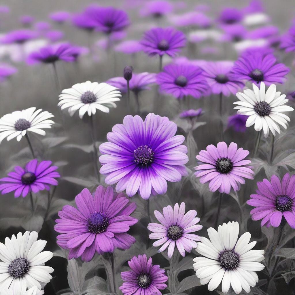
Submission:
[[[153,260],[145,254],[134,256],[128,261],[131,271],[122,271],[121,278],[124,281],[119,287],[123,295],[161,295],[164,290],[168,276],[159,265],[153,265]]]

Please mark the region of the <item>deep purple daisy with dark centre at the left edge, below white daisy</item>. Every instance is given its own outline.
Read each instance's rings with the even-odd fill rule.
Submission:
[[[7,177],[1,178],[1,194],[7,194],[14,191],[14,197],[18,198],[21,194],[27,196],[29,192],[37,193],[46,189],[50,190],[49,185],[58,185],[55,178],[60,177],[55,170],[57,166],[51,166],[51,161],[42,161],[38,163],[37,159],[31,160],[25,168],[16,166],[15,172],[9,172]]]

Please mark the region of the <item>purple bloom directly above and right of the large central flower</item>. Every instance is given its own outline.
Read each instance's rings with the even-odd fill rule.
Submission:
[[[172,94],[178,99],[191,95],[200,98],[208,89],[201,68],[189,64],[170,64],[156,76],[159,91]]]

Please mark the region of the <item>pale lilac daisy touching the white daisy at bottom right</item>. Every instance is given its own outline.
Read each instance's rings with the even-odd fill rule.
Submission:
[[[185,204],[182,202],[180,206],[175,204],[174,208],[164,207],[163,215],[157,210],[154,213],[161,224],[149,223],[148,230],[153,232],[149,235],[150,239],[158,240],[153,243],[153,246],[162,245],[158,252],[163,252],[168,247],[168,258],[170,259],[175,245],[183,257],[185,251],[190,253],[192,248],[197,248],[196,241],[200,241],[201,237],[192,232],[201,230],[203,226],[197,224],[200,218],[196,217],[196,210],[189,210],[185,214]]]

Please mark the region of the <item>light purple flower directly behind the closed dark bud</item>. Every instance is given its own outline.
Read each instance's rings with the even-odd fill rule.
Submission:
[[[132,73],[132,78],[129,81],[130,90],[139,93],[142,90],[149,90],[150,84],[156,82],[156,74],[154,73]],[[112,85],[120,89],[121,92],[127,92],[127,81],[124,77],[114,77],[106,81],[107,84]]]

